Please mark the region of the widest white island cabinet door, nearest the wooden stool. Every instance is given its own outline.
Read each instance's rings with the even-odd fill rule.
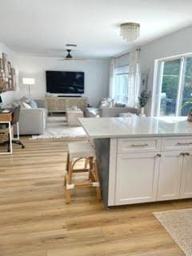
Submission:
[[[154,153],[118,154],[115,205],[155,201],[158,165]]]

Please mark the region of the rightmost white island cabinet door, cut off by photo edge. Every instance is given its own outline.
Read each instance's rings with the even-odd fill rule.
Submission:
[[[192,151],[187,153],[190,155],[183,158],[180,198],[192,198]]]

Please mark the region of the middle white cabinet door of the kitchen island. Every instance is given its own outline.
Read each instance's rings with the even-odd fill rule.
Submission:
[[[162,153],[158,174],[158,201],[179,198],[182,162],[180,151]]]

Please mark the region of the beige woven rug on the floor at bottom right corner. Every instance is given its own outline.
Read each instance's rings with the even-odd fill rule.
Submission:
[[[154,216],[186,256],[192,256],[192,209],[156,212]]]

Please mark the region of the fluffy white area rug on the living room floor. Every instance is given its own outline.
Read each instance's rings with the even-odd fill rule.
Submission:
[[[44,133],[41,135],[33,135],[30,139],[49,138],[87,138],[87,135],[82,127],[68,126],[65,117],[53,116],[47,118],[46,129],[44,130]]]

